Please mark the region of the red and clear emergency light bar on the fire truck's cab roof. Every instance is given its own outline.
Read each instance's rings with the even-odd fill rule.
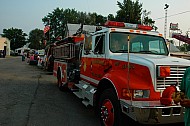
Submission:
[[[140,30],[146,30],[146,31],[151,31],[153,29],[151,26],[147,26],[147,25],[116,22],[116,21],[107,21],[105,23],[105,26],[106,27],[128,28],[128,29],[140,29]]]

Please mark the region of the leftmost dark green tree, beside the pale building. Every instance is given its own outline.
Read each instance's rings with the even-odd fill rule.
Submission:
[[[2,37],[6,37],[10,40],[11,50],[21,48],[26,44],[27,34],[22,31],[22,29],[10,28],[3,29]]]

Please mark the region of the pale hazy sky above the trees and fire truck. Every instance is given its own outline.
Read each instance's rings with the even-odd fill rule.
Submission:
[[[96,12],[103,16],[116,15],[117,1],[123,0],[0,0],[0,34],[3,29],[19,28],[26,34],[35,28],[43,29],[42,18],[57,7],[75,9],[82,12]],[[164,34],[165,10],[167,3],[167,36],[169,24],[178,23],[183,31],[190,30],[190,0],[139,0],[143,9],[151,11],[150,17],[156,21],[158,31]]]

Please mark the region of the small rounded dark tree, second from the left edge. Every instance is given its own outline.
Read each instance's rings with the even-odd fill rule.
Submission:
[[[36,28],[30,31],[28,38],[28,41],[30,42],[29,47],[31,49],[37,49],[37,50],[44,48],[43,36],[44,36],[43,30]]]

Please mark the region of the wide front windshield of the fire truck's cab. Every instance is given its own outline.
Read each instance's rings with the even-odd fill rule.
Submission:
[[[128,37],[129,52],[131,53],[168,55],[166,42],[162,37],[121,32],[110,33],[110,51],[113,53],[127,53]]]

